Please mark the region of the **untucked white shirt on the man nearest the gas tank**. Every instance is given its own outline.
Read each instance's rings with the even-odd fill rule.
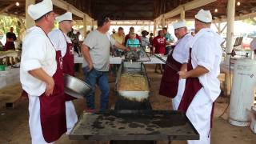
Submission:
[[[206,28],[200,30],[190,42],[193,68],[199,65],[209,70],[207,74],[199,77],[199,81],[206,97],[209,97],[212,102],[221,92],[218,74],[220,74],[222,61],[221,44],[223,41],[224,39],[216,32]]]

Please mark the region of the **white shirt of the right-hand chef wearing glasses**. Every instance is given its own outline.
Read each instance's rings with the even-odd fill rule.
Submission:
[[[182,39],[178,40],[173,53],[173,57],[177,62],[187,62],[190,56],[190,40],[192,38],[191,34],[186,34]]]

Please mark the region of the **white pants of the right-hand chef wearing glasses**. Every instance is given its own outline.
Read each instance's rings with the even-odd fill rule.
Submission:
[[[178,110],[179,103],[182,100],[182,95],[184,93],[186,86],[186,79],[179,79],[178,80],[178,92],[176,96],[172,99],[172,105],[173,105],[173,110]]]

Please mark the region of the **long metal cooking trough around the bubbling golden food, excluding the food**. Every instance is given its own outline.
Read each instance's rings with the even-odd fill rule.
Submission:
[[[146,78],[147,85],[149,90],[147,91],[128,91],[128,90],[119,90],[118,82],[122,73],[130,72],[130,73],[137,73],[142,74]],[[125,97],[134,97],[138,96],[140,98],[147,98],[150,96],[150,82],[149,78],[146,73],[146,67],[142,62],[122,62],[121,66],[118,69],[118,75],[116,79],[116,90],[118,95],[125,96]]]

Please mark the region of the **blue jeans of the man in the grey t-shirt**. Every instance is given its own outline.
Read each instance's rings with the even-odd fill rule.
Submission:
[[[92,91],[90,94],[86,95],[86,103],[87,107],[91,110],[95,109],[94,106],[94,95],[95,95],[95,87],[96,84],[99,86],[99,89],[101,90],[100,95],[100,110],[106,110],[108,109],[108,103],[109,103],[109,94],[110,94],[110,86],[107,78],[107,71],[98,71],[98,70],[89,70],[89,67],[82,68],[83,74],[86,77],[86,83],[88,83]]]

